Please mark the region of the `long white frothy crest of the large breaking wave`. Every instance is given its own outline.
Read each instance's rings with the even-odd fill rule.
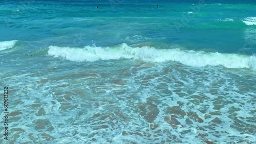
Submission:
[[[71,61],[97,61],[139,59],[147,62],[177,61],[189,66],[225,66],[227,68],[256,68],[256,56],[207,53],[180,49],[156,49],[155,47],[131,47],[125,43],[116,47],[91,47],[83,49],[49,46],[48,54]]]

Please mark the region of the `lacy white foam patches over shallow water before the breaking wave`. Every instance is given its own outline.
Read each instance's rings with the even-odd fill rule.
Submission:
[[[17,87],[13,94],[20,94],[13,98],[16,110],[34,113],[29,117],[22,113],[12,122],[14,128],[26,131],[18,133],[16,141],[29,141],[30,133],[38,131],[46,131],[50,143],[255,141],[253,71],[174,66],[173,62],[101,63],[71,68],[70,63],[47,64],[45,70],[6,75]],[[40,115],[42,110],[45,114]],[[24,126],[28,122],[31,126]],[[33,139],[34,143],[47,140],[44,135]]]

